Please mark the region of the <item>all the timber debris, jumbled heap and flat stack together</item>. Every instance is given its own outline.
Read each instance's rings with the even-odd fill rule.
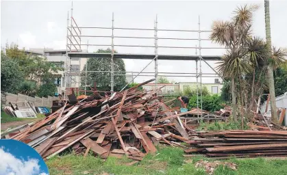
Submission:
[[[218,116],[200,109],[177,113],[157,96],[160,88],[138,89],[145,83],[105,96],[95,91],[92,96],[77,98],[72,93],[68,100],[53,105],[51,115],[5,131],[1,137],[32,146],[43,159],[73,150],[84,156],[93,152],[103,159],[126,155],[136,162],[155,153],[158,144],[184,148],[185,157],[287,156],[286,131],[258,131],[270,130],[264,126],[251,127],[257,131],[195,131],[190,122],[199,120],[198,116],[225,120],[231,113],[230,107],[217,111]],[[195,119],[184,117],[188,115]],[[260,121],[259,117],[255,120]],[[208,165],[208,170],[212,168]]]

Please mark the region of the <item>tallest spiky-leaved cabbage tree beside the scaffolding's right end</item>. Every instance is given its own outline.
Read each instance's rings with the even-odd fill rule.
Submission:
[[[252,12],[255,9],[247,5],[237,8],[232,21],[215,21],[210,35],[211,40],[227,48],[227,53],[219,63],[218,69],[223,77],[232,79],[232,116],[235,121],[237,121],[235,79],[243,85],[241,76],[251,70],[251,65],[243,57],[245,49],[242,49],[242,46],[245,46],[250,39]],[[242,100],[242,94],[239,97]]]

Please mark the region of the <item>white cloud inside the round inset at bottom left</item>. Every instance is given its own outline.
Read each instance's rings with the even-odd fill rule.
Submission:
[[[0,148],[0,174],[8,175],[38,175],[40,174],[40,165],[38,159],[28,159],[27,161],[17,159],[9,152],[5,152],[3,148]],[[41,173],[40,175],[47,175]]]

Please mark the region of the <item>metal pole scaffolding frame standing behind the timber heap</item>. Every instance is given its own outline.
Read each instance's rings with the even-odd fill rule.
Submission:
[[[70,21],[70,25],[69,25]],[[158,29],[158,15],[155,16],[154,21],[154,28],[128,28],[128,27],[114,27],[114,13],[112,13],[112,26],[111,27],[79,27],[75,21],[75,18],[73,17],[73,2],[72,2],[72,8],[71,8],[71,17],[67,18],[67,33],[66,33],[66,67],[65,67],[65,83],[66,83],[66,89],[68,89],[68,92],[70,92],[71,87],[71,81],[74,81],[71,79],[71,70],[73,68],[71,67],[71,58],[110,58],[111,59],[111,68],[110,71],[99,71],[99,70],[93,70],[88,71],[86,70],[79,70],[77,72],[78,75],[81,74],[81,72],[85,72],[85,94],[86,94],[86,82],[87,82],[87,73],[88,72],[110,72],[110,92],[114,93],[114,76],[123,76],[126,75],[126,73],[130,73],[128,71],[126,72],[118,72],[114,71],[114,59],[151,59],[151,61],[147,64],[149,66],[152,62],[154,62],[154,72],[143,72],[145,68],[142,68],[140,72],[132,72],[136,73],[135,76],[132,77],[132,80],[129,81],[121,91],[129,85],[129,83],[134,82],[134,79],[139,76],[145,76],[145,77],[154,77],[155,78],[155,87],[158,87],[158,76],[161,77],[196,77],[197,79],[197,109],[199,107],[202,110],[202,77],[223,77],[208,64],[207,61],[216,61],[220,60],[221,56],[207,56],[207,55],[201,55],[202,49],[225,49],[222,47],[202,47],[201,41],[202,40],[210,40],[208,38],[201,38],[201,33],[211,32],[208,30],[201,30],[201,24],[200,24],[200,17],[198,18],[198,29],[197,30],[188,30],[188,29]],[[82,35],[82,29],[107,29],[111,30],[110,36],[93,36],[93,35]],[[154,31],[153,37],[142,37],[142,36],[114,36],[115,30],[134,30],[134,31]],[[159,31],[176,31],[176,32],[197,32],[198,38],[164,38],[164,37],[158,37]],[[111,44],[92,44],[87,42],[86,44],[82,43],[82,38],[86,38],[89,41],[89,38],[110,38]],[[134,39],[147,39],[147,40],[154,40],[154,45],[131,45],[131,44],[114,44],[114,38],[134,38]],[[198,45],[195,46],[159,46],[158,40],[197,40]],[[110,46],[112,48],[112,53],[84,53],[82,51],[82,46],[86,46],[88,50],[88,46]],[[140,48],[154,48],[154,55],[153,54],[134,54],[134,53],[114,53],[115,47],[140,47]],[[159,55],[158,49],[160,48],[168,48],[168,49],[195,49],[195,55]],[[198,52],[197,52],[198,51]],[[198,54],[197,54],[198,53]],[[188,72],[158,72],[158,60],[159,59],[165,59],[165,60],[193,60],[196,63],[196,73],[188,73]],[[198,63],[199,62],[199,63]],[[201,62],[205,62],[213,71],[214,73],[203,73],[202,72],[202,64]],[[81,64],[81,62],[80,62]],[[198,65],[199,64],[199,65]],[[87,66],[86,66],[87,68]],[[73,70],[73,72],[75,72]],[[81,76],[79,76],[81,77]],[[224,80],[224,79],[223,79]],[[79,81],[80,83],[81,81]],[[200,94],[200,104],[199,104],[199,94]],[[199,117],[199,116],[198,116]],[[202,114],[201,114],[202,118]]]

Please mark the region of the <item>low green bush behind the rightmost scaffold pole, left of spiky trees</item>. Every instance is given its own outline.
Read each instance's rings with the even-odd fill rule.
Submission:
[[[200,103],[201,97],[199,96],[199,108],[201,108]],[[223,108],[223,101],[221,100],[221,96],[214,94],[212,96],[203,96],[202,97],[202,109],[206,111],[219,111],[219,109]],[[188,109],[197,107],[197,96],[190,96]]]

